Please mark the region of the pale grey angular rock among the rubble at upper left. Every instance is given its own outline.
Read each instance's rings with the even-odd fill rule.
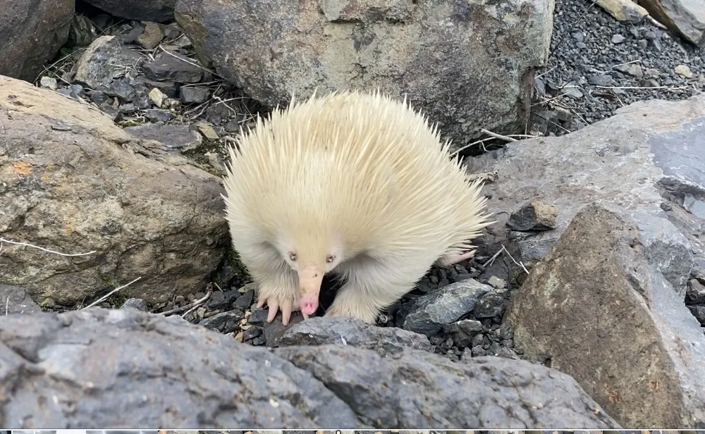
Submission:
[[[93,90],[104,90],[118,71],[121,72],[127,66],[138,66],[141,61],[140,55],[126,49],[120,39],[102,36],[95,39],[81,54],[73,80]]]

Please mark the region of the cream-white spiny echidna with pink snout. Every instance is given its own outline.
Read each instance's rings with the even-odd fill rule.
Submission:
[[[276,109],[230,149],[226,215],[258,305],[305,317],[331,271],[326,315],[374,322],[434,263],[473,254],[489,225],[480,181],[406,101],[342,92]],[[470,252],[468,252],[470,251]]]

